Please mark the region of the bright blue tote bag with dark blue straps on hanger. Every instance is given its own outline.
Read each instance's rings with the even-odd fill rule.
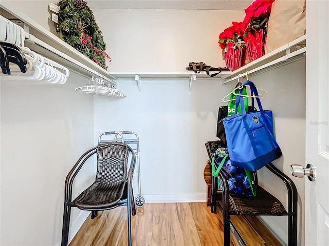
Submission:
[[[258,96],[251,81],[243,83],[243,86],[246,85],[250,86],[251,95]],[[239,94],[242,94],[242,90]],[[256,100],[259,111],[246,113],[243,97],[237,96],[235,107],[241,105],[241,114],[235,111],[234,115],[223,119],[232,165],[253,172],[282,155],[273,136],[272,111],[263,110],[260,99],[257,97]]]

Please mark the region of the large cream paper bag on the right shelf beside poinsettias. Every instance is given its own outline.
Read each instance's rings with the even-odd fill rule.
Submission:
[[[265,54],[306,33],[306,1],[276,0],[268,20]]]

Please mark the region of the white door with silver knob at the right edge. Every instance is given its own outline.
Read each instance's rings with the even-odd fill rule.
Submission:
[[[329,245],[329,0],[306,1],[305,245]]]

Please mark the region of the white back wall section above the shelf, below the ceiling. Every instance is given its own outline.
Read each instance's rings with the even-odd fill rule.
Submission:
[[[183,71],[191,61],[225,67],[218,36],[244,11],[93,10],[103,31],[109,71]]]

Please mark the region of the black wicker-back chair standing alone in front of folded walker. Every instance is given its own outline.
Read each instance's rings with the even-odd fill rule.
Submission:
[[[97,154],[97,174],[95,182],[72,201],[72,183],[86,160]],[[131,155],[131,164],[127,163]],[[72,207],[92,211],[92,219],[97,211],[127,206],[128,243],[132,245],[131,212],[136,214],[132,188],[135,168],[135,153],[128,145],[110,142],[98,145],[85,152],[68,173],[65,180],[65,200],[63,215],[62,246],[67,246],[70,213]],[[131,211],[132,210],[132,211]]]

